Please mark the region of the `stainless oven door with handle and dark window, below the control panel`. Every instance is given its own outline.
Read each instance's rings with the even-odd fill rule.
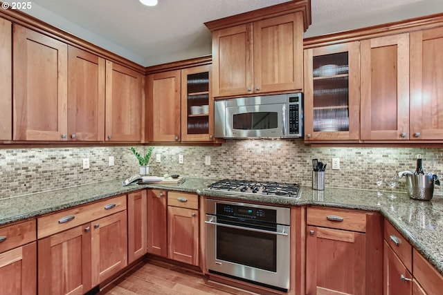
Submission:
[[[208,271],[287,292],[290,227],[266,231],[222,222],[206,215]]]

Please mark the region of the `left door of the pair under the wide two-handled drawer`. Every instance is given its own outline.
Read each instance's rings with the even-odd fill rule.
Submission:
[[[38,241],[39,294],[84,294],[91,289],[90,225]]]

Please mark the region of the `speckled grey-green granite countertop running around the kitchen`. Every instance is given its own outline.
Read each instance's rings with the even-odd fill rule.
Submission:
[[[417,249],[440,274],[443,274],[443,197],[434,196],[431,201],[413,200],[406,193],[383,192],[359,189],[325,188],[314,191],[302,187],[301,198],[281,198],[271,196],[240,196],[235,193],[219,193],[206,189],[216,180],[186,178],[182,184],[130,184],[123,187],[121,180],[111,180],[80,187],[71,187],[28,196],[0,200],[0,225],[33,218],[69,207],[102,200],[139,189],[166,189],[186,191],[213,198],[228,198],[245,202],[266,202],[279,205],[308,205],[379,211]]]

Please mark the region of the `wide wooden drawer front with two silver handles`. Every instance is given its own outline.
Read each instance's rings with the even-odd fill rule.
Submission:
[[[37,236],[44,238],[126,209],[126,195],[37,218]]]

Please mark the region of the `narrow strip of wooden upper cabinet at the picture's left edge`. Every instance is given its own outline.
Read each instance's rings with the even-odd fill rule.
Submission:
[[[12,24],[0,18],[0,140],[12,140]]]

